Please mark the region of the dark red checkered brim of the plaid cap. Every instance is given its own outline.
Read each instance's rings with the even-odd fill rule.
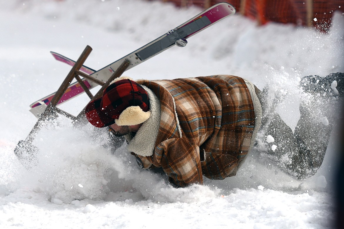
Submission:
[[[115,119],[107,117],[100,106],[101,98],[90,101],[85,109],[87,120],[95,127],[107,127],[115,123]]]

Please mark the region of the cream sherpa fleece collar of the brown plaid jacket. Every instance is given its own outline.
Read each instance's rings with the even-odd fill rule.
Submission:
[[[129,152],[140,156],[152,156],[160,127],[161,105],[158,97],[151,89],[144,85],[141,86],[147,91],[151,116],[142,123],[133,138],[130,134],[125,135],[125,138],[129,142]]]

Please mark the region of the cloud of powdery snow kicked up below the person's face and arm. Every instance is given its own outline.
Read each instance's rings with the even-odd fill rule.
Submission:
[[[126,143],[111,150],[104,128],[74,127],[65,118],[47,124],[33,142],[39,164],[22,178],[21,186],[46,193],[54,203],[73,200],[193,202],[213,198],[219,190],[193,185],[175,189],[165,174],[142,170]]]

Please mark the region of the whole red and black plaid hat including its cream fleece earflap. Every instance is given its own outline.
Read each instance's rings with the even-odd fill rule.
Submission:
[[[150,117],[148,94],[135,81],[120,77],[112,81],[101,98],[88,103],[85,113],[95,127],[140,124]]]

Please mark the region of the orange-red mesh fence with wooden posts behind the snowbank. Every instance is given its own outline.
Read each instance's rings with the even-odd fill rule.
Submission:
[[[176,6],[191,5],[208,8],[219,2],[232,4],[237,12],[255,19],[259,24],[269,21],[314,26],[327,31],[333,12],[344,12],[344,0],[161,0]]]

